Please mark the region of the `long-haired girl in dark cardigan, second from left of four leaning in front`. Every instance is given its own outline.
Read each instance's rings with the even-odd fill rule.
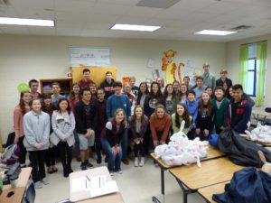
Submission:
[[[138,165],[142,167],[145,164],[144,138],[147,125],[148,118],[144,115],[143,107],[139,105],[135,106],[134,115],[129,117],[129,129],[134,141],[135,167]]]

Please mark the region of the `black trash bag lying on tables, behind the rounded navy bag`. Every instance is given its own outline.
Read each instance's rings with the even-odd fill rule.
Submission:
[[[229,159],[241,166],[254,166],[261,168],[264,164],[259,159],[257,151],[262,151],[266,161],[271,162],[271,152],[266,148],[257,145],[253,141],[248,141],[233,130],[225,129],[220,133],[218,140],[221,152],[229,155]]]

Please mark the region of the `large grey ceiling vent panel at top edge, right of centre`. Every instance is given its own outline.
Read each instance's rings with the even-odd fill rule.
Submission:
[[[181,0],[141,0],[137,6],[150,7],[150,8],[169,8]]]

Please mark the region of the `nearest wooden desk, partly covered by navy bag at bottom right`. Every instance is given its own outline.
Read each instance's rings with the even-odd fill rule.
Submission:
[[[223,193],[227,183],[229,183],[229,181],[198,189],[198,193],[206,200],[206,202],[215,203],[216,201],[212,200],[212,195]]]

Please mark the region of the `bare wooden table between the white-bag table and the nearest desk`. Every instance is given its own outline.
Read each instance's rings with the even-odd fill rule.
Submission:
[[[192,164],[185,167],[176,167],[169,171],[173,174],[183,191],[183,203],[187,203],[188,194],[210,185],[229,181],[233,173],[242,168],[242,166],[238,166],[229,161],[228,158],[222,157],[202,161],[201,167]]]

